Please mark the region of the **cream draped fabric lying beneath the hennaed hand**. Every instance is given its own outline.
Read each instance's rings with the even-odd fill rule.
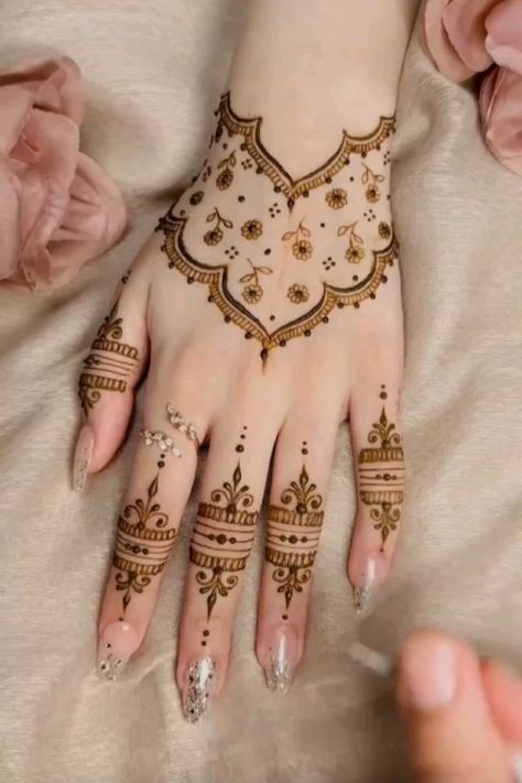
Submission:
[[[236,6],[239,8],[240,2]],[[95,628],[133,435],[70,489],[80,356],[112,289],[196,167],[237,29],[232,1],[0,4],[0,67],[66,53],[88,86],[85,149],[117,180],[131,230],[53,296],[0,296],[0,779],[6,783],[395,783],[410,780],[385,684],[351,663],[433,624],[522,666],[522,180],[486,151],[465,87],[411,44],[395,137],[406,318],[410,485],[393,577],[356,622],[345,557],[354,513],[338,438],[306,660],[287,697],[253,655],[260,548],[227,693],[183,720],[173,681],[185,525],[151,632],[119,684],[95,675]],[[188,511],[191,518],[193,507]]]

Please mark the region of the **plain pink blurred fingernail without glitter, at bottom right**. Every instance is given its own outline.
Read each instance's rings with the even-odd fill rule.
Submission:
[[[457,663],[452,644],[442,639],[406,642],[401,659],[401,702],[422,713],[447,707],[457,688]]]

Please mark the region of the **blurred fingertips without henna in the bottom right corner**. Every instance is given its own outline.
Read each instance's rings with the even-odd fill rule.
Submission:
[[[455,666],[455,692],[445,704],[433,699],[439,676],[433,662],[441,649],[449,651]],[[412,682],[412,670],[421,674],[423,693],[418,678]],[[522,747],[522,681],[516,672],[496,661],[480,661],[460,640],[415,631],[400,654],[396,694],[421,783],[514,780],[511,760]]]

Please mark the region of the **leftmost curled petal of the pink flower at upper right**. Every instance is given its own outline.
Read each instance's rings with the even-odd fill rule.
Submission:
[[[443,13],[449,41],[472,73],[486,70],[491,57],[486,51],[485,20],[499,0],[453,0]]]

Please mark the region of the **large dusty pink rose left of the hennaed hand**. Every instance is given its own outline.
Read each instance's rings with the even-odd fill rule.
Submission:
[[[64,285],[123,231],[116,184],[79,152],[83,117],[68,57],[0,76],[0,286]]]

